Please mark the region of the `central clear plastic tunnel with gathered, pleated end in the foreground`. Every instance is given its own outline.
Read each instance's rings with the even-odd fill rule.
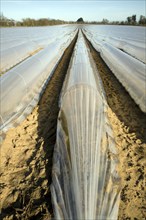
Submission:
[[[61,95],[52,171],[55,219],[117,219],[117,152],[102,83],[79,34]]]

